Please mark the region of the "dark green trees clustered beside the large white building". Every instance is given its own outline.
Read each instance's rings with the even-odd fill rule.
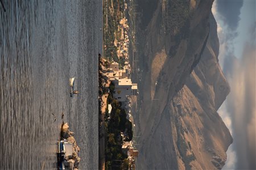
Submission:
[[[108,104],[112,105],[112,112],[108,109],[105,113],[106,143],[105,143],[105,168],[106,169],[126,169],[127,155],[122,152],[121,132],[125,135],[125,141],[133,139],[132,124],[127,120],[125,109],[122,104],[113,97],[114,83],[110,83]]]

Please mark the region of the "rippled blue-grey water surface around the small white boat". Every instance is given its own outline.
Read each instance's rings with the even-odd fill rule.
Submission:
[[[61,112],[98,168],[102,1],[5,1],[0,6],[0,169],[56,169]],[[76,76],[80,95],[69,95]],[[54,121],[54,116],[56,121]]]

